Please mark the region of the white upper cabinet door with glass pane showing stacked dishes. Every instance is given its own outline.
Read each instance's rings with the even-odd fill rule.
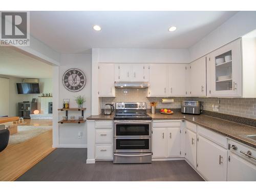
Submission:
[[[207,56],[208,93],[211,97],[241,97],[241,40],[209,53]]]

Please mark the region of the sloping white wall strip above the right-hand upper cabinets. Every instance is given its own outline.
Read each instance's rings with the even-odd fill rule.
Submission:
[[[254,29],[256,29],[256,11],[240,11],[190,47],[190,61],[194,61]]]

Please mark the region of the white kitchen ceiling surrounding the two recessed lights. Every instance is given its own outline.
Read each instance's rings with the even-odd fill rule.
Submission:
[[[237,11],[32,11],[30,32],[59,53],[193,46]],[[101,26],[94,31],[93,26]],[[177,30],[168,32],[170,26]]]

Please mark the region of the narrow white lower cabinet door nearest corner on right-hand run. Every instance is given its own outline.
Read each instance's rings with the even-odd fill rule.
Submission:
[[[185,130],[185,159],[196,168],[197,163],[197,134]]]

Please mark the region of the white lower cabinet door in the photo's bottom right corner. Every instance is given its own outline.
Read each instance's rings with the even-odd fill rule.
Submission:
[[[256,165],[228,152],[227,181],[256,181]]]

